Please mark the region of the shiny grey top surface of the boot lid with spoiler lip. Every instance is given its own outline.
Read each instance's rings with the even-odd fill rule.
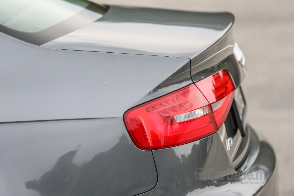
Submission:
[[[110,6],[96,22],[42,46],[193,58],[220,39],[233,20],[230,13]]]

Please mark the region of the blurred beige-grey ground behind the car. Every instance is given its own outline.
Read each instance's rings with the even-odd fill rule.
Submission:
[[[242,87],[247,121],[273,146],[280,195],[294,195],[294,0],[92,0],[127,5],[235,15],[235,41],[246,57]]]

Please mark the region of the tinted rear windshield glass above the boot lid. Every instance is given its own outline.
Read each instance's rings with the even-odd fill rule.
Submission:
[[[42,45],[98,20],[107,7],[87,0],[0,0],[0,31]]]

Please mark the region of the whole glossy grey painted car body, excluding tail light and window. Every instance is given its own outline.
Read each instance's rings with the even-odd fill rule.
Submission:
[[[123,122],[128,109],[218,70],[239,87],[246,69],[233,55],[233,22],[109,6],[39,45],[1,32],[0,195],[277,195],[274,152],[248,124],[230,154],[225,125],[147,151]]]

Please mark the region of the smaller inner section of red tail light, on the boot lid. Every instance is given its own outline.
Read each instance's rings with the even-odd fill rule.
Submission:
[[[221,70],[195,83],[211,104],[217,129],[223,125],[234,99],[235,85],[227,70]]]

